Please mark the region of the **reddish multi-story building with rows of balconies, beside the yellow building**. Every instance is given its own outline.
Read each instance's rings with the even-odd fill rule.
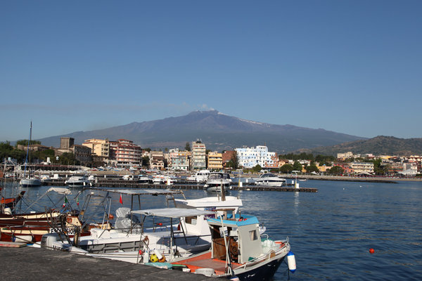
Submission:
[[[141,147],[135,145],[133,141],[120,139],[110,141],[110,159],[117,161],[117,166],[132,166],[141,164]]]

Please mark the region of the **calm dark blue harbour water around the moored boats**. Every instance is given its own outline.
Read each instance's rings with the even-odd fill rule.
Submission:
[[[257,216],[270,237],[289,237],[298,269],[289,274],[282,263],[274,280],[422,280],[421,182],[306,181],[300,185],[319,192],[230,193],[241,197],[242,213]],[[8,192],[11,186],[6,184]],[[29,202],[48,188],[19,190],[27,190]],[[75,195],[77,189],[72,192]],[[184,193],[188,199],[207,196],[203,190]],[[51,195],[44,202],[56,200]],[[129,197],[122,200],[130,206]],[[121,206],[119,195],[113,195],[113,202],[113,210]],[[142,209],[163,207],[164,199],[150,197],[141,204]],[[95,212],[98,219],[101,208]]]

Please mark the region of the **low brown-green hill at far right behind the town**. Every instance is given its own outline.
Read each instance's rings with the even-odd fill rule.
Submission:
[[[300,150],[301,152],[312,152],[314,155],[337,155],[351,151],[354,154],[373,155],[422,155],[422,138],[395,138],[393,136],[377,136],[366,140],[352,141],[338,145],[314,148],[311,150]]]

